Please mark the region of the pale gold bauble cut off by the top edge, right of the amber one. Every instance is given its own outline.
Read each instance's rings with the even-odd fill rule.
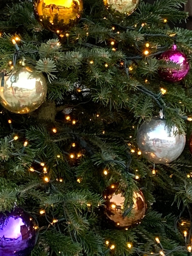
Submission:
[[[112,7],[121,13],[131,14],[139,3],[139,0],[103,0],[105,6]]]

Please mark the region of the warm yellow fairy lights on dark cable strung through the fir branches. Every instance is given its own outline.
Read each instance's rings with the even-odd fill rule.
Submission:
[[[104,17],[104,19],[106,19],[106,18]],[[166,19],[166,18],[163,19],[163,22],[166,23],[166,22],[167,22],[167,19]],[[138,31],[141,31],[141,29],[143,29],[143,27],[144,27],[145,25],[146,25],[145,23],[142,23],[142,24],[141,24],[141,27],[140,27],[140,29],[139,29]],[[134,25],[134,28],[136,28],[136,27],[137,27],[137,25]],[[114,27],[114,26],[112,27],[112,30],[115,31],[115,27]],[[116,34],[120,34],[120,31],[117,31]],[[2,36],[2,33],[0,33],[0,36]],[[69,40],[69,36],[70,36],[69,33],[66,33],[65,36],[66,36],[67,40]],[[86,36],[89,36],[89,32],[86,33]],[[154,34],[153,34],[153,35],[147,35],[147,34],[146,34],[145,36],[158,36],[158,35],[154,35]],[[164,35],[159,35],[159,36],[164,36]],[[170,36],[173,37],[173,36],[175,36],[175,34],[171,34]],[[170,37],[170,36],[167,36],[167,37]],[[20,52],[20,48],[18,47],[18,42],[19,42],[20,40],[21,40],[21,39],[20,39],[18,36],[15,36],[14,38],[12,38],[12,43],[13,43],[13,45],[15,46],[17,52]],[[111,40],[110,45],[111,45],[111,47],[112,47],[112,48],[111,48],[112,51],[116,51],[115,44],[116,44],[115,41],[114,41],[114,40]],[[59,45],[60,45],[60,43],[58,43],[58,46],[59,46]],[[153,54],[150,55],[150,43],[149,43],[149,42],[145,43],[145,49],[143,50],[143,55],[144,55],[144,56],[153,56]],[[132,57],[129,57],[129,59],[131,59],[131,58],[132,58]],[[133,58],[134,58],[134,57],[133,57]],[[143,58],[143,57],[141,56],[141,58]],[[16,59],[14,59],[14,58],[13,58],[13,61],[9,61],[10,69],[13,69],[15,63],[16,63]],[[89,61],[89,64],[94,65],[94,61],[93,61],[93,60],[90,60],[90,61]],[[127,68],[127,66],[125,65],[125,62],[123,62],[123,61],[120,63],[120,65],[123,66],[123,67],[125,67],[125,72],[126,72],[127,75],[129,76],[129,73],[128,73],[128,72],[131,72],[132,69],[133,69],[133,67],[132,67],[132,66],[129,66],[129,67]],[[108,63],[105,63],[105,67],[107,68],[108,66],[109,66],[109,64],[108,64]],[[145,79],[145,83],[147,83],[147,79]],[[152,93],[150,90],[147,90],[147,89],[145,88],[145,86],[140,86],[140,87],[137,88],[137,90],[140,91],[140,92],[143,92],[144,94],[150,95],[150,97],[152,97],[152,98],[157,102],[157,104],[159,105],[160,108],[163,107],[164,102],[162,101],[162,97],[163,97],[163,95],[165,95],[165,93],[166,93],[166,90],[165,90],[164,88],[160,88],[159,94],[154,94],[154,93]],[[81,92],[80,88],[78,88],[77,92]],[[100,115],[97,114],[96,116],[99,117]],[[188,121],[192,121],[192,117],[187,117],[187,116],[185,117],[185,116],[184,116],[184,117],[182,117],[182,118],[185,119],[185,120],[188,120]],[[76,120],[71,119],[70,115],[66,115],[65,119],[66,119],[67,121],[70,121],[71,124],[76,125]],[[92,119],[90,119],[90,121],[92,121]],[[9,124],[11,130],[13,130],[13,126],[12,126],[12,121],[11,121],[11,119],[8,120],[8,124]],[[133,127],[133,129],[134,129],[134,127]],[[58,132],[56,127],[52,128],[51,131],[52,131],[53,133],[57,133],[57,132]],[[102,133],[105,134],[105,130],[103,130]],[[132,138],[132,135],[130,135],[129,138],[131,139],[131,138]],[[11,139],[11,140],[9,141],[9,143],[12,143],[13,141],[17,141],[18,139],[19,139],[18,135],[14,135],[13,139]],[[28,142],[28,141],[25,141],[24,144],[23,144],[23,147],[22,147],[22,149],[21,149],[21,153],[22,153],[22,154],[25,153],[25,148],[26,148],[28,145],[29,145],[29,142]],[[129,146],[130,153],[132,153],[132,154],[137,154],[137,155],[141,155],[141,150],[136,149],[135,146],[132,145],[132,143],[127,143],[127,145]],[[73,143],[72,143],[72,147],[75,148],[75,146],[76,146],[76,143],[73,142]],[[69,153],[70,159],[76,159],[76,157],[79,158],[79,157],[81,157],[81,156],[82,156],[81,153],[77,153],[77,155],[74,155],[74,153]],[[60,156],[60,154],[58,154],[56,157],[57,157],[57,158],[60,158],[61,156]],[[51,182],[50,177],[47,175],[48,171],[47,171],[47,167],[45,166],[45,163],[40,162],[40,161],[38,161],[38,160],[36,160],[36,159],[34,160],[34,163],[39,164],[39,165],[43,168],[43,171],[42,171],[42,172],[43,172],[43,180],[44,180],[44,182],[47,182],[47,183],[48,183],[48,182]],[[36,172],[36,173],[38,173],[38,174],[42,174],[40,171],[35,170],[32,166],[29,168],[29,171],[30,171],[31,173],[35,173],[35,172]],[[133,175],[133,176],[134,176],[134,178],[135,178],[136,180],[138,180],[139,177],[140,177],[139,174],[138,174],[139,171],[138,171],[138,169],[136,169],[135,171],[136,171],[136,174]],[[104,168],[104,170],[103,170],[103,175],[107,176],[108,174],[109,174],[109,170],[108,170],[107,168]],[[154,165],[154,167],[153,167],[152,174],[153,174],[153,175],[156,174],[155,165]],[[188,177],[188,176],[187,176],[187,177]],[[191,177],[191,175],[190,175],[190,177]],[[58,178],[56,178],[56,181],[57,181],[57,182],[63,182],[63,178],[58,177]],[[77,182],[80,183],[81,181],[82,181],[82,177],[78,177],[78,178],[77,178]],[[98,206],[99,206],[99,204],[98,204]],[[91,207],[91,203],[87,203],[87,207]],[[45,218],[47,219],[45,209],[40,209],[39,213],[40,213],[41,215],[45,215]],[[47,221],[49,222],[49,225],[55,225],[55,224],[56,224],[57,222],[59,222],[60,220],[54,218],[54,219],[52,220],[52,222],[50,222],[48,219],[47,219]],[[183,222],[182,222],[182,223],[183,223]],[[181,223],[181,225],[183,225],[182,223]],[[38,227],[36,226],[35,229],[38,229]],[[158,253],[154,253],[154,252],[142,252],[142,251],[140,251],[138,248],[134,247],[133,244],[132,244],[131,242],[129,242],[129,241],[127,242],[126,245],[127,245],[127,249],[128,249],[128,250],[134,249],[136,252],[138,252],[138,254],[141,254],[141,253],[142,253],[143,255],[154,255],[154,256],[159,256],[159,255],[161,255],[161,256],[167,256],[167,255],[171,254],[171,253],[174,252],[174,251],[177,251],[177,252],[189,252],[189,253],[191,253],[191,251],[192,251],[192,243],[188,243],[188,244],[187,244],[188,232],[187,232],[187,231],[184,231],[184,232],[183,232],[183,236],[184,236],[184,240],[185,240],[186,246],[185,246],[185,247],[184,247],[184,246],[178,246],[178,247],[174,248],[173,250],[166,250],[166,249],[164,249],[163,246],[162,246],[162,244],[161,244],[161,242],[160,242],[160,239],[159,239],[158,237],[156,237],[156,238],[155,238],[155,241],[156,241],[157,245],[159,246],[159,252],[158,252]],[[105,245],[106,245],[106,247],[107,247],[107,250],[104,252],[103,255],[107,254],[110,250],[114,250],[115,247],[116,247],[116,245],[115,245],[114,243],[110,243],[109,240],[106,240],[106,241],[105,241]]]

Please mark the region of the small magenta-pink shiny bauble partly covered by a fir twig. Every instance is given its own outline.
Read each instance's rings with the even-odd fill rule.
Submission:
[[[160,60],[173,61],[180,65],[179,69],[166,68],[159,70],[160,76],[169,82],[177,82],[183,79],[189,71],[189,64],[186,55],[176,48],[176,45],[173,45],[172,49],[163,52],[159,57]]]

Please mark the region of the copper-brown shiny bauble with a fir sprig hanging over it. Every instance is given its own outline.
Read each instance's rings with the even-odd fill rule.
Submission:
[[[141,191],[134,192],[132,211],[129,216],[124,216],[125,197],[118,187],[119,184],[115,183],[105,189],[103,193],[105,213],[116,227],[128,228],[140,223],[141,219],[144,218],[147,209],[145,198]]]

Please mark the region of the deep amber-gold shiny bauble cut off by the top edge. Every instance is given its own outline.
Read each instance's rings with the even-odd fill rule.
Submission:
[[[34,14],[38,22],[57,34],[74,27],[83,11],[83,0],[35,0]]]

